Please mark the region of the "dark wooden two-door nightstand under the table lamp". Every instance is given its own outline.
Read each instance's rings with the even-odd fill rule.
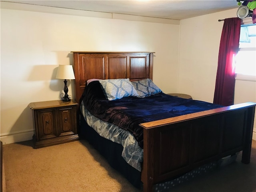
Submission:
[[[33,102],[34,148],[79,140],[76,126],[78,103],[62,100]]]

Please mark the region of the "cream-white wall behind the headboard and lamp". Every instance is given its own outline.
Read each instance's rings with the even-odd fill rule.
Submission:
[[[179,25],[3,9],[1,2],[1,110],[4,144],[32,139],[30,102],[58,100],[58,64],[71,51],[137,51],[154,54],[153,81],[176,92]],[[74,82],[68,82],[74,95]]]

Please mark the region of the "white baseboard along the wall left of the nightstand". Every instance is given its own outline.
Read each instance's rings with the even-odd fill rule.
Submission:
[[[33,129],[10,132],[10,133],[1,134],[0,140],[3,142],[3,144],[28,141],[28,140],[32,140],[33,134],[34,134]]]

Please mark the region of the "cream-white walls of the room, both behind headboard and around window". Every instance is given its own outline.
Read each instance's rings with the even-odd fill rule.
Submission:
[[[32,139],[28,104],[59,99],[64,85],[55,79],[56,68],[73,63],[70,51],[156,52],[153,81],[164,92],[212,102],[223,26],[218,19],[236,17],[234,9],[181,20],[178,25],[12,10],[2,5],[0,138],[4,144]],[[58,12],[65,11],[59,8]],[[255,87],[255,82],[237,81],[235,103],[256,102]],[[74,81],[68,82],[68,88],[74,95]]]

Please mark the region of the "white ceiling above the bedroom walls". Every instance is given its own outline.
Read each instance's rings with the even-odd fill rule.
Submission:
[[[1,0],[58,8],[182,20],[238,8],[236,0]]]

